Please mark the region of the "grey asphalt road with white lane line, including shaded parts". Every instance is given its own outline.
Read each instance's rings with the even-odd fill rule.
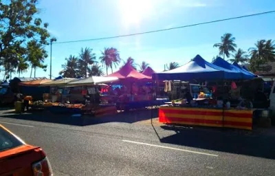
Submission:
[[[151,126],[148,112],[122,116],[78,126],[66,117],[2,111],[0,124],[41,146],[55,175],[275,175],[275,129]]]

